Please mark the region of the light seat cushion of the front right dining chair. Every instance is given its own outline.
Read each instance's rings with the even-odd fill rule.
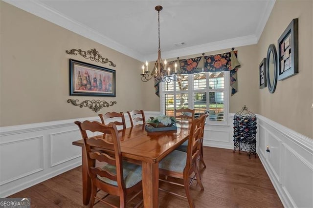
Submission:
[[[174,172],[183,172],[186,166],[186,160],[186,152],[174,150],[159,162],[158,167]]]

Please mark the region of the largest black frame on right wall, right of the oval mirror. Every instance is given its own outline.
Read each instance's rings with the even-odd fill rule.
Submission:
[[[278,80],[298,74],[298,19],[293,19],[277,42]]]

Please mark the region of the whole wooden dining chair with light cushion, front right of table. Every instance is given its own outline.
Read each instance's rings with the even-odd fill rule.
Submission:
[[[189,133],[187,152],[174,150],[159,162],[160,175],[183,179],[183,184],[174,183],[169,180],[159,180],[163,182],[168,182],[170,184],[183,186],[186,192],[186,197],[162,188],[159,189],[176,196],[187,198],[190,208],[195,207],[193,200],[190,196],[190,185],[192,181],[196,179],[198,185],[201,187],[201,190],[204,189],[201,183],[200,172],[197,166],[197,161],[200,157],[201,151],[200,139],[198,138],[200,133],[200,119],[194,119]],[[193,177],[190,177],[193,173]]]

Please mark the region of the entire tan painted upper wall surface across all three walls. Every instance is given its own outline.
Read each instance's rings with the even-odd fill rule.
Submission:
[[[242,66],[238,92],[230,97],[230,113],[246,104],[261,115],[313,138],[313,1],[277,0],[257,45],[237,47]],[[141,63],[104,45],[0,1],[0,126],[96,116],[67,99],[100,99],[117,104],[100,112],[160,110],[154,83],[140,81]],[[260,90],[258,66],[291,19],[299,18],[299,74],[278,81],[276,91]],[[116,67],[67,55],[66,50],[96,48]],[[218,54],[228,50],[206,53]],[[200,54],[190,55],[196,57]],[[116,97],[69,96],[68,59],[116,70]],[[181,57],[181,59],[187,57]],[[130,84],[131,83],[131,84]]]

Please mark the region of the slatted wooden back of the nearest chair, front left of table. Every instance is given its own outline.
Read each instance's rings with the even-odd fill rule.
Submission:
[[[76,121],[75,124],[79,126],[84,140],[86,154],[83,155],[83,157],[87,159],[88,174],[91,180],[96,180],[97,176],[106,177],[111,179],[112,181],[116,181],[118,187],[120,187],[121,189],[125,189],[125,184],[123,180],[121,147],[116,126],[114,124],[103,125],[96,121],[84,121],[83,123]],[[88,137],[86,131],[100,132],[103,133],[103,136]],[[106,137],[108,139],[105,139],[103,137]],[[92,147],[97,148],[95,150]],[[102,153],[101,149],[112,150],[114,152],[114,156],[109,156],[106,153]],[[100,162],[99,164],[105,162],[112,166],[115,166],[116,173],[110,172],[108,170],[103,170],[101,166],[97,166],[98,163],[95,163],[95,161]],[[108,193],[112,192],[111,190],[116,189],[112,185],[105,183],[103,183],[103,187]]]

